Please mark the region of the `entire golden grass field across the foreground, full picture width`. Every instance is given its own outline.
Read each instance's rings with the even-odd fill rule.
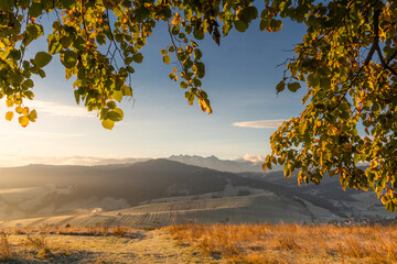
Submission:
[[[397,263],[389,227],[7,228],[0,263]]]

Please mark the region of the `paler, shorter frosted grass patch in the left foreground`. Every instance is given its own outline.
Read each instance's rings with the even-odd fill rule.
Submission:
[[[65,226],[8,228],[1,233],[0,263],[211,263],[200,249],[175,246],[164,229]]]

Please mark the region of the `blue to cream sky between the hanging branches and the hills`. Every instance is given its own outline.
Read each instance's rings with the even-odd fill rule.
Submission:
[[[222,37],[221,46],[208,35],[196,41],[206,66],[202,88],[208,94],[212,114],[202,112],[197,101],[190,106],[185,90],[169,79],[173,66],[163,64],[160,54],[170,44],[164,25],[154,30],[141,51],[143,62],[131,76],[133,100],[124,100],[125,118],[111,131],[103,129],[96,112],[76,105],[73,81],[66,81],[54,57],[44,68],[47,77],[33,78],[34,100],[24,103],[37,110],[36,122],[22,128],[15,118],[12,122],[0,118],[0,166],[89,165],[89,158],[180,154],[260,160],[271,152],[269,138],[276,128],[302,111],[305,89],[276,94],[285,70],[277,65],[293,57],[291,50],[301,42],[304,28],[285,21],[281,32],[268,33],[260,32],[258,23],[245,33],[234,30]],[[45,37],[30,52],[43,48]],[[2,99],[0,117],[6,111]]]

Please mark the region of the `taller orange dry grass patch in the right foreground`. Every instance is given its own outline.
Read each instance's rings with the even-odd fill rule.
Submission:
[[[298,224],[175,226],[179,244],[226,263],[397,263],[397,229]]]

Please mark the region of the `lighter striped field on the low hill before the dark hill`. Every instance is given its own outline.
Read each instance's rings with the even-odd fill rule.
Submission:
[[[315,216],[315,217],[314,217]],[[271,191],[235,197],[189,196],[164,198],[122,210],[93,210],[85,215],[42,217],[2,221],[0,227],[95,227],[122,226],[160,228],[185,223],[260,223],[340,220],[330,211],[309,202],[292,200]]]

